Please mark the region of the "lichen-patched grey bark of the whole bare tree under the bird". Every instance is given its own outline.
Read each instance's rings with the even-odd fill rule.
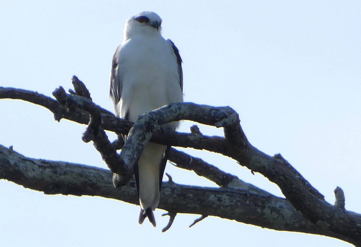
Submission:
[[[86,91],[80,91],[86,94]],[[99,130],[128,134],[133,125],[92,103],[90,94],[84,98],[79,97],[77,92],[67,95],[64,91],[56,101],[32,91],[0,87],[1,98],[21,99],[42,105],[54,113],[57,121],[66,118],[82,124],[89,123],[88,129],[92,126],[92,132],[88,133],[87,140],[93,140],[95,146],[96,142],[103,140],[102,137],[96,139]],[[95,118],[98,120],[90,121]],[[158,126],[164,121],[181,119],[223,127],[225,136],[204,136],[197,131],[186,134],[158,130]],[[132,127],[130,135],[136,138],[129,138],[129,142],[132,143],[126,143],[125,146],[135,155],[141,153],[142,148],[139,147],[150,139],[161,144],[206,149],[229,156],[240,165],[246,166],[252,172],[261,173],[277,184],[286,197],[283,199],[274,196],[201,159],[172,149],[170,160],[177,166],[193,170],[198,175],[216,182],[220,187],[179,185],[171,180],[164,182],[158,207],[165,209],[170,215],[212,215],[274,230],[326,235],[361,246],[361,215],[344,209],[342,190],[335,190],[335,205],[327,203],[323,195],[281,155],[271,157],[253,147],[239,125],[238,114],[229,107],[215,108],[193,103],[172,104],[140,117]],[[122,146],[118,143],[111,144],[109,148],[112,149],[106,149],[110,156],[105,156],[114,156],[117,160],[117,145]],[[107,161],[104,158],[104,150],[98,151]],[[120,158],[123,159],[124,156]],[[124,166],[120,170],[123,174],[129,174],[126,169],[131,167],[131,159],[123,161]],[[45,194],[93,195],[138,204],[134,182],[126,183],[125,180],[125,186],[114,188],[112,172],[108,170],[67,162],[30,159],[3,146],[0,146],[0,179],[44,191]],[[130,179],[129,175],[127,179]]]

